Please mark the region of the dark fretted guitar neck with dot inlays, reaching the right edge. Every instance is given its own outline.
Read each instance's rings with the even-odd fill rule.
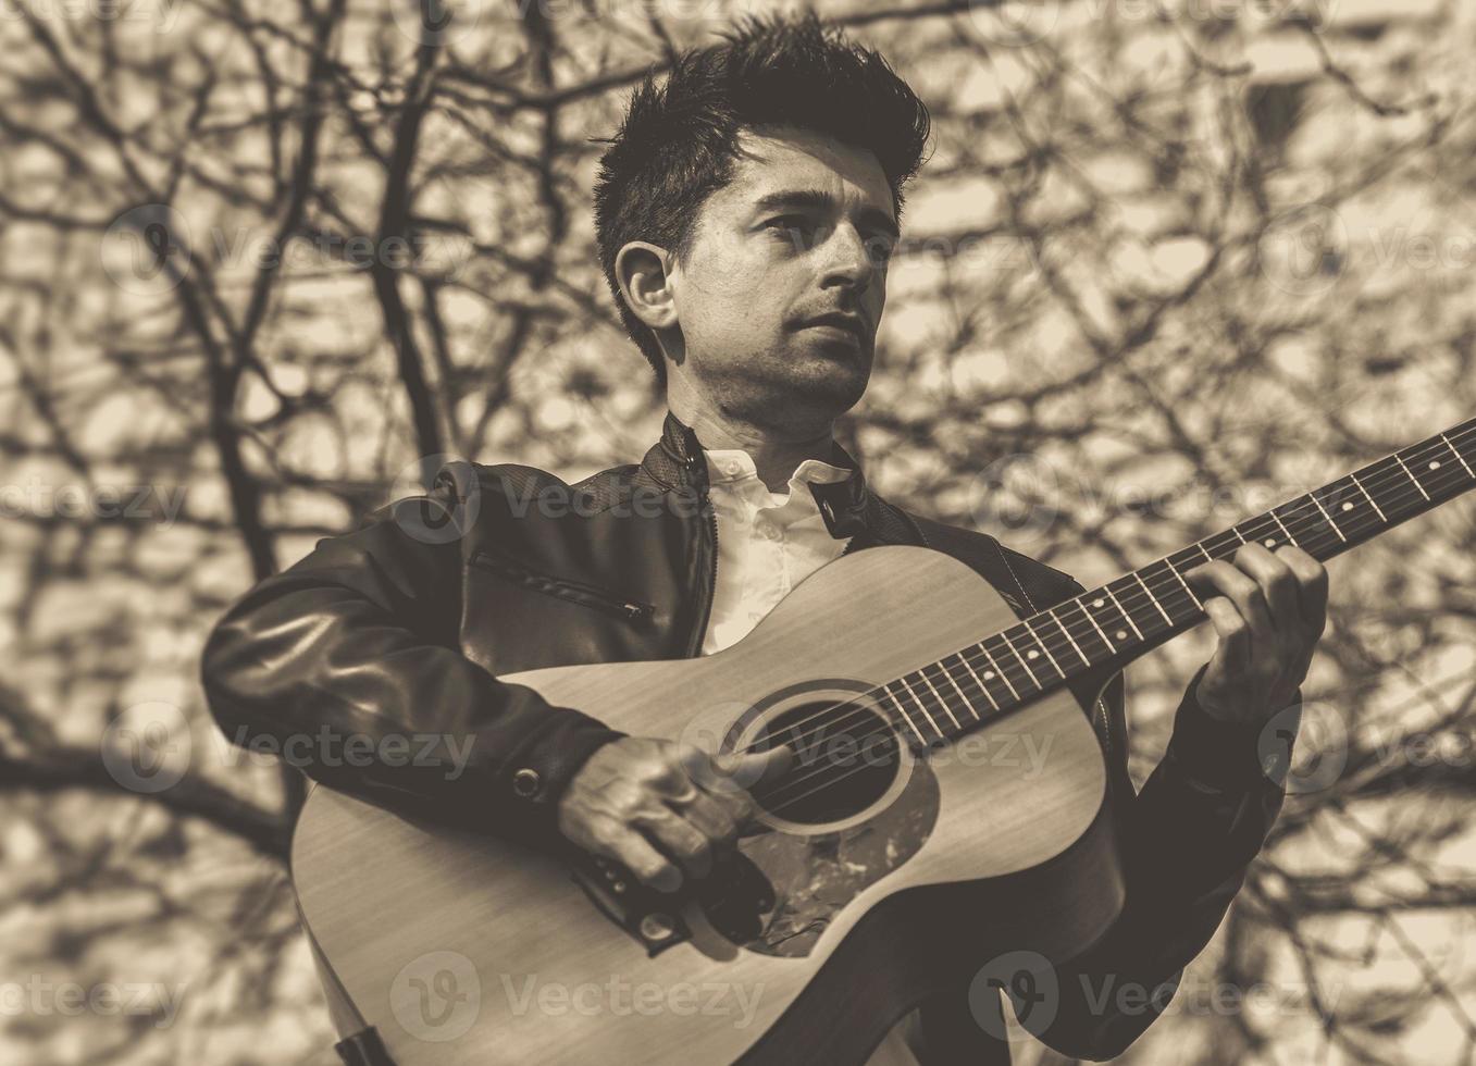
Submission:
[[[1294,545],[1320,561],[1476,487],[1476,419],[1246,518],[1182,551],[903,675],[880,692],[920,746],[1104,667],[1120,669],[1204,620],[1185,574],[1241,545]]]

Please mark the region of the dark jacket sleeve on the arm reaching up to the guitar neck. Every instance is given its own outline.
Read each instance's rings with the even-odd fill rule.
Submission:
[[[1262,766],[1262,726],[1207,715],[1194,698],[1203,673],[1190,682],[1168,750],[1142,790],[1132,794],[1125,752],[1108,768],[1126,896],[1107,933],[1057,967],[1058,1007],[1038,1035],[1063,1054],[1119,1056],[1163,1013],[1281,811],[1284,778]],[[1120,673],[1103,700],[1125,738]],[[1290,740],[1277,754],[1290,756]]]

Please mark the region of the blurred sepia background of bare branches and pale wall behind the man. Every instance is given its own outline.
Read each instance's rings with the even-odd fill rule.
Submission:
[[[303,781],[205,633],[446,458],[645,450],[598,139],[765,10],[0,0],[0,1060],[335,1062]],[[1476,4],[818,10],[934,118],[844,427],[884,495],[1091,586],[1476,413]],[[1472,1060],[1473,501],[1331,564],[1293,794],[1119,1062]],[[1129,670],[1139,781],[1212,647]]]

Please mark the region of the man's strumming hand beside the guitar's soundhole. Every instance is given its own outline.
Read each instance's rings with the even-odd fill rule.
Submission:
[[[793,752],[726,756],[649,737],[621,737],[595,750],[558,803],[558,828],[571,843],[624,865],[657,892],[683,876],[711,873],[754,815],[747,788],[788,768]]]

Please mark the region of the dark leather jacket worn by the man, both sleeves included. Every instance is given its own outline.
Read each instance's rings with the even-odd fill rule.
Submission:
[[[816,486],[847,551],[911,543],[948,552],[1021,616],[1082,591],[993,537],[911,515],[849,481]],[[441,470],[425,496],[382,508],[230,607],[204,654],[205,692],[239,744],[269,743],[310,777],[388,808],[483,831],[546,839],[584,759],[621,735],[497,675],[542,666],[700,654],[716,576],[716,521],[695,434],[669,416],[639,465],[568,486],[511,464]],[[1197,678],[1196,678],[1197,681]],[[1122,675],[1082,690],[1107,756],[1126,909],[1060,974],[1057,1050],[1120,1053],[1166,1005],[1148,994],[1197,955],[1240,889],[1281,806],[1256,731],[1210,719],[1193,697],[1139,793],[1128,777]],[[288,746],[292,737],[314,743]],[[391,749],[391,735],[409,749]],[[329,746],[335,738],[360,741]],[[401,757],[366,757],[366,752]],[[459,753],[459,759],[458,759]],[[1103,989],[1111,995],[1103,1000]],[[1123,1005],[1128,1004],[1126,1008]],[[924,1062],[1008,1062],[965,989],[924,1004]]]

